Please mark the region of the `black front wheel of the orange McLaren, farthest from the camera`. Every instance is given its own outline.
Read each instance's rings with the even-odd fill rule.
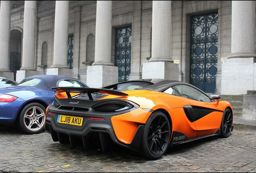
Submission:
[[[232,131],[233,115],[229,109],[225,109],[221,121],[221,137],[229,137]]]

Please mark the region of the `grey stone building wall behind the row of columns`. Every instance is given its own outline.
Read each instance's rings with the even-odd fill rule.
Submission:
[[[190,16],[218,12],[218,74],[217,93],[221,93],[221,63],[231,50],[231,1],[178,1],[173,0],[171,13],[171,58],[179,64],[179,80],[189,82],[190,73]],[[70,1],[68,34],[78,36],[74,40],[74,76],[86,81],[87,38],[95,36],[96,1]],[[142,65],[151,57],[152,1],[113,1],[112,4],[111,62],[114,63],[115,28],[132,25],[132,73],[133,79],[141,78]],[[79,10],[79,9],[80,10]],[[12,29],[23,29],[24,6],[12,10]],[[77,16],[77,10],[80,12]],[[47,43],[47,67],[53,64],[55,1],[40,1],[37,14],[37,71],[42,73],[42,45]],[[77,18],[80,18],[78,20]],[[78,25],[78,26],[77,26]],[[79,32],[77,31],[79,30]],[[84,62],[84,63],[83,63]],[[41,67],[39,67],[41,66]],[[81,73],[80,73],[81,72]],[[132,76],[131,76],[132,78]]]

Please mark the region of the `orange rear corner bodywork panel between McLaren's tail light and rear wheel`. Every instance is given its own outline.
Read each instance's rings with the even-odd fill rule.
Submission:
[[[122,143],[130,143],[139,125],[145,124],[151,112],[138,108],[132,113],[125,113],[111,118],[116,137]]]

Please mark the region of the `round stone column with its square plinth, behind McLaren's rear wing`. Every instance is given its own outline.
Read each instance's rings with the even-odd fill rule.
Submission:
[[[95,62],[87,67],[87,85],[103,87],[118,82],[118,67],[111,62],[112,1],[97,1]]]

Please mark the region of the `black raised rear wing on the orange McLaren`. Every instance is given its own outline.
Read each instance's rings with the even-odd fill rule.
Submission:
[[[101,93],[108,95],[128,96],[128,94],[121,91],[111,89],[99,89],[99,88],[86,88],[86,87],[52,87],[52,91],[55,93],[66,92],[68,98],[72,98],[70,93],[83,93],[87,94],[90,100],[93,100],[92,93]]]

